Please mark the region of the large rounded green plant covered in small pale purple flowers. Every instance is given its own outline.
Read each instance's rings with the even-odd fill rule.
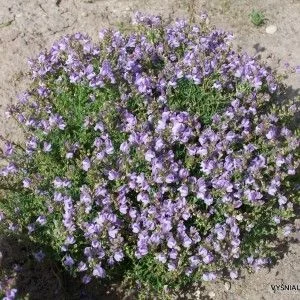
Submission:
[[[269,263],[292,230],[296,106],[204,24],[137,14],[129,33],[66,36],[30,61],[9,109],[25,142],[3,138],[2,222],[85,283],[167,297]]]

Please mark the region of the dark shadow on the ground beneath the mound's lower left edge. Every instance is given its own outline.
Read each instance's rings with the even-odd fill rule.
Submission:
[[[33,246],[35,248],[35,246]],[[49,259],[37,262],[32,245],[16,238],[0,239],[1,273],[7,274],[18,290],[17,299],[30,300],[117,300],[108,288],[88,286],[72,278]]]

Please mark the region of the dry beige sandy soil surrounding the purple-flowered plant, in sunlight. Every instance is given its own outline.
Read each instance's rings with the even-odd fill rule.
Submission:
[[[250,23],[252,9],[264,11],[266,25],[257,28]],[[96,39],[99,29],[128,22],[136,10],[172,18],[207,11],[212,25],[232,31],[236,46],[261,57],[273,69],[283,72],[286,63],[291,68],[300,65],[299,0],[0,0],[0,133],[20,137],[4,111],[26,86],[28,57],[66,33],[81,31]],[[271,24],[278,28],[273,35],[265,32]],[[289,74],[285,82],[290,97],[299,95],[300,74]],[[290,244],[270,270],[246,274],[229,290],[224,283],[208,285],[205,293],[213,299],[300,299],[300,291],[271,289],[271,284],[300,286],[299,262],[300,245]]]

